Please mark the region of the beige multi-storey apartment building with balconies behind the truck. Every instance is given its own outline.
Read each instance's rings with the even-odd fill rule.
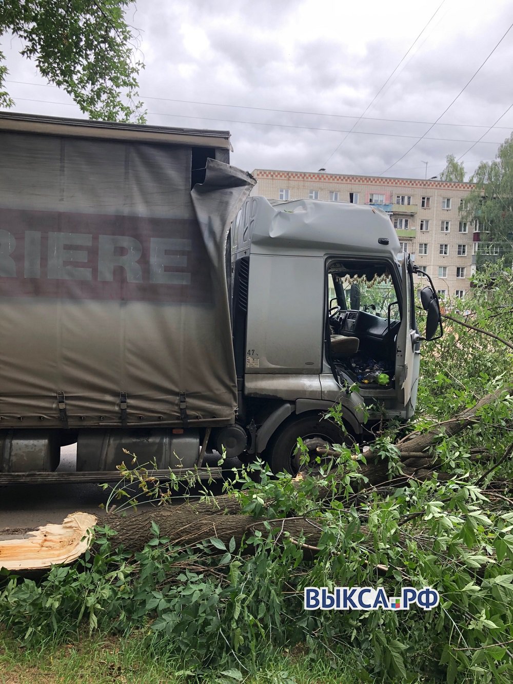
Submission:
[[[402,250],[430,274],[440,295],[453,300],[469,290],[480,226],[463,221],[460,206],[471,183],[266,169],[252,173],[257,179],[252,194],[267,199],[380,207],[389,214]]]

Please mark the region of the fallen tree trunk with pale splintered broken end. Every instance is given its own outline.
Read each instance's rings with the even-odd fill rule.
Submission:
[[[483,397],[472,408],[463,410],[444,423],[436,423],[426,432],[412,432],[395,444],[400,456],[402,474],[389,479],[389,464],[380,459],[372,450],[366,454],[367,463],[358,465],[360,474],[365,475],[367,484],[360,488],[360,494],[366,488],[376,488],[380,484],[398,486],[405,479],[415,477],[425,479],[432,477],[436,469],[437,456],[434,449],[440,438],[455,436],[475,421],[479,420],[479,411],[496,402],[504,390]],[[336,451],[324,450],[328,454]],[[479,449],[477,449],[479,451]],[[343,474],[337,475],[330,482],[330,487],[320,486],[317,498],[322,501],[326,497],[336,496],[337,477],[342,481]],[[440,479],[449,477],[445,473],[438,475]],[[300,486],[300,480],[296,480]],[[3,531],[8,539],[0,541],[0,568],[8,570],[34,570],[49,568],[52,564],[70,563],[76,560],[89,547],[92,537],[88,530],[98,522],[95,516],[81,512],[70,514],[62,525],[46,525],[29,532],[28,535],[16,534],[9,529]],[[239,499],[233,494],[211,497],[197,503],[159,506],[150,508],[133,516],[109,514],[103,518],[116,533],[116,546],[128,551],[140,551],[154,536],[152,522],[160,529],[160,535],[175,545],[190,546],[197,542],[217,538],[224,543],[235,539],[237,547],[244,536],[255,532],[266,533],[274,529],[276,539],[286,535],[301,543],[307,549],[315,549],[322,533],[319,521],[315,518],[287,516],[276,520],[266,517],[254,518],[244,514]],[[302,540],[298,542],[297,540]]]

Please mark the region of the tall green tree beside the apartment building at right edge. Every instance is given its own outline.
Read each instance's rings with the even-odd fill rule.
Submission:
[[[465,215],[477,218],[489,231],[490,241],[513,242],[513,134],[499,146],[493,161],[482,161],[471,182],[473,191],[465,198]]]

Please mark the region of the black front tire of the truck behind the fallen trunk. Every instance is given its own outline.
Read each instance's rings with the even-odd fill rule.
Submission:
[[[265,458],[276,475],[285,471],[297,475],[300,471],[300,450],[298,437],[302,438],[310,453],[311,463],[319,456],[319,446],[341,444],[353,441],[330,419],[319,414],[298,417],[283,425],[281,430],[269,441],[265,450]],[[314,466],[315,467],[315,466]]]

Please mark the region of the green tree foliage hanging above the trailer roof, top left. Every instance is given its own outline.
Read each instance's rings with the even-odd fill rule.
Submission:
[[[4,0],[0,36],[21,39],[21,55],[65,90],[92,119],[144,122],[137,101],[137,36],[125,20],[129,0]],[[0,106],[14,102],[5,87],[0,51]]]

